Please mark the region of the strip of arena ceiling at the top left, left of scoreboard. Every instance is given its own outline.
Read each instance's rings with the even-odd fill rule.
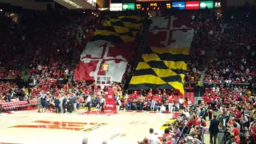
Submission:
[[[0,0],[2,3],[10,3],[13,6],[22,6],[30,10],[43,10],[46,5],[54,7],[54,3],[65,6],[67,9],[94,9],[95,7],[86,2],[86,0]],[[40,7],[41,6],[41,7]]]

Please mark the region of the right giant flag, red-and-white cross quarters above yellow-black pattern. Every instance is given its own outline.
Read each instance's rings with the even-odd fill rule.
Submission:
[[[147,39],[149,47],[138,62],[129,89],[177,89],[183,94],[194,30],[180,17],[152,20]]]

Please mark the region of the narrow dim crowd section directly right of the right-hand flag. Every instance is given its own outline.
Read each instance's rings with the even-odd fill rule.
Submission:
[[[206,66],[206,50],[210,50],[218,37],[213,30],[220,30],[222,19],[206,12],[190,13],[190,20],[194,28],[194,38],[191,42],[190,60],[187,63],[186,82],[198,82]]]

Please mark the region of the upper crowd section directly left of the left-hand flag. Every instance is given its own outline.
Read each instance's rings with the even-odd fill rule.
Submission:
[[[38,21],[33,38],[33,55],[30,63],[30,79],[42,82],[50,79],[65,79],[72,77],[74,71],[74,49],[81,49],[83,19],[54,15]],[[32,34],[32,35],[34,35]],[[72,67],[73,66],[73,67]]]

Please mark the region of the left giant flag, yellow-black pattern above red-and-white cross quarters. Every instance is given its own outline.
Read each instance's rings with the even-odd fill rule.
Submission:
[[[137,19],[141,21],[141,18],[136,16],[128,16],[128,20],[130,19],[134,19],[134,25],[139,24]],[[114,22],[118,21],[120,19],[114,20]],[[130,51],[132,51],[135,35],[126,26],[115,24],[110,22],[108,25],[102,26],[90,38],[74,71],[76,81],[94,81],[96,77],[102,75],[112,77],[114,82],[122,81],[122,75],[126,72],[127,63],[130,60]],[[103,64],[108,65],[107,72],[102,70]]]

